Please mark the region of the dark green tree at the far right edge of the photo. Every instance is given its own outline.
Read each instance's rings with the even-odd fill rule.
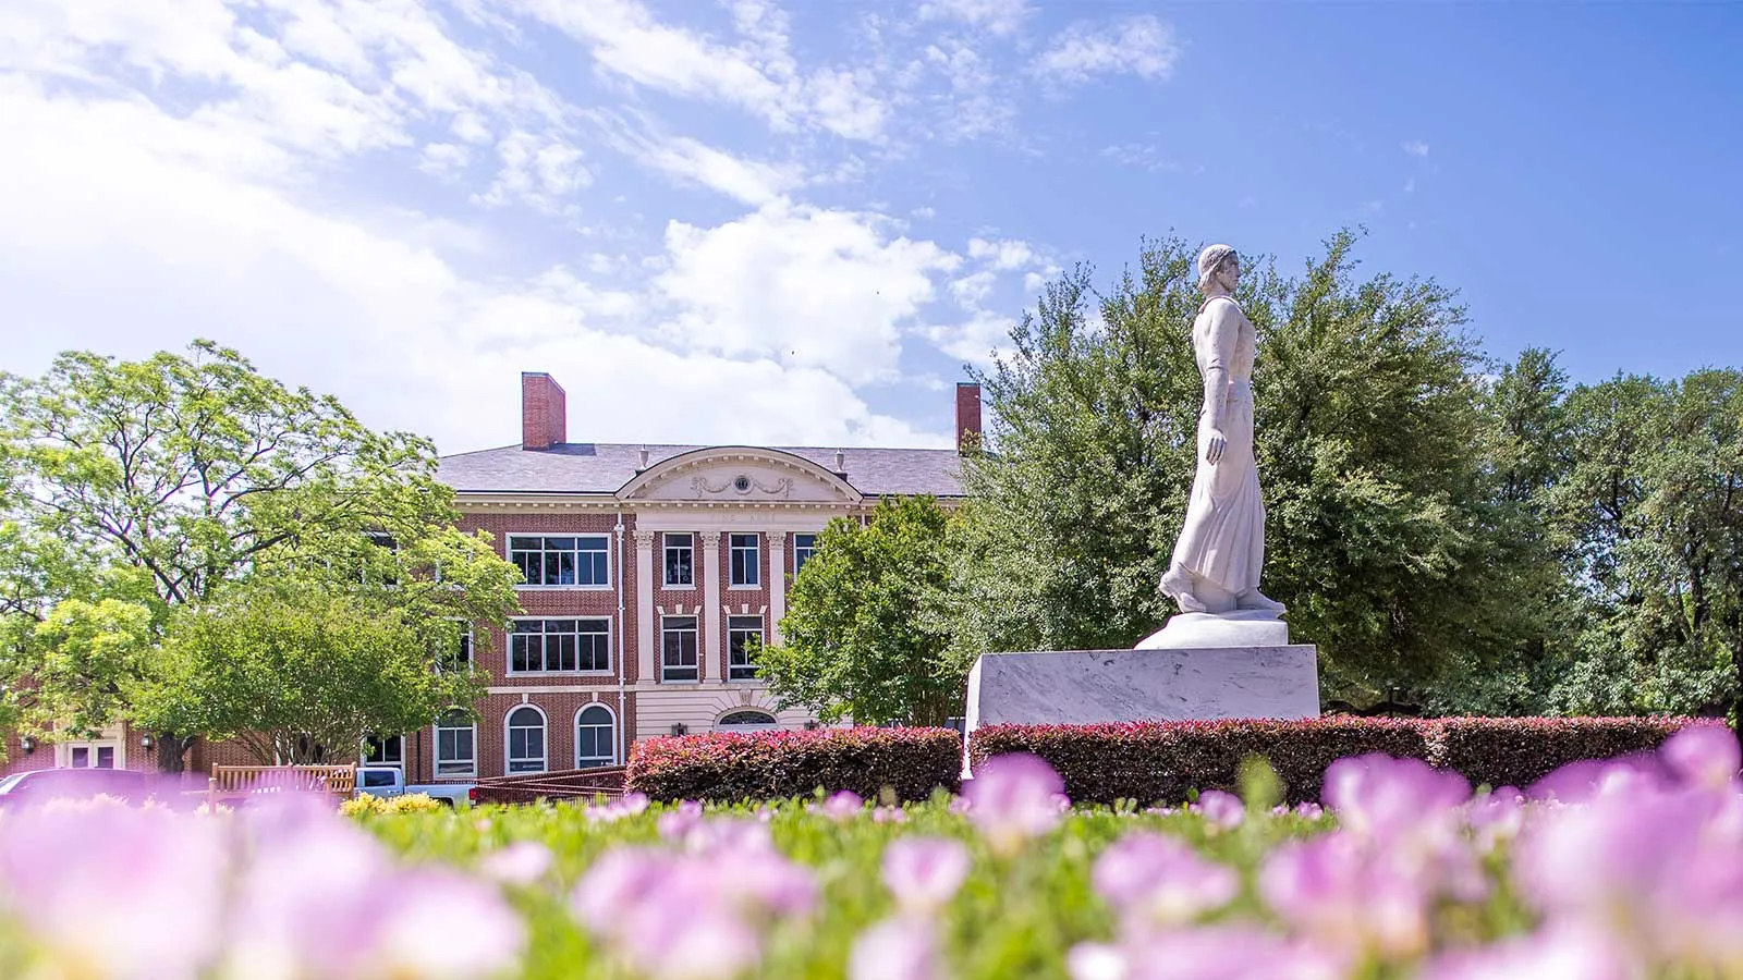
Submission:
[[[1577,652],[1553,698],[1581,713],[1743,708],[1743,371],[1618,375],[1567,401],[1551,521],[1572,548]]]

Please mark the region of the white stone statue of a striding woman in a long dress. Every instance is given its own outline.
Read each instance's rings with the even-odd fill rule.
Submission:
[[[1253,460],[1253,354],[1257,335],[1234,286],[1241,260],[1225,244],[1199,253],[1204,303],[1192,321],[1192,352],[1204,378],[1197,473],[1185,527],[1161,591],[1182,612],[1283,612],[1258,591],[1265,563],[1265,504]]]

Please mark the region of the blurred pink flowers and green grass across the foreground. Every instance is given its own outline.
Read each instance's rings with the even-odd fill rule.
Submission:
[[[1074,807],[1025,753],[919,804],[63,804],[0,818],[0,977],[1743,977],[1738,769],[1698,725],[1482,793],[1346,757],[1323,809]]]

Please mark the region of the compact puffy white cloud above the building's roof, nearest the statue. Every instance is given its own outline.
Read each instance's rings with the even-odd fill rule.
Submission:
[[[852,384],[887,380],[899,328],[960,258],[885,237],[873,214],[770,204],[716,228],[671,221],[661,293],[676,335],[725,356],[824,368]]]

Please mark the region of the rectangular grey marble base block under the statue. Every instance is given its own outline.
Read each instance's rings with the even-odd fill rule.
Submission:
[[[1199,647],[985,654],[969,671],[980,725],[1314,718],[1318,649]]]

